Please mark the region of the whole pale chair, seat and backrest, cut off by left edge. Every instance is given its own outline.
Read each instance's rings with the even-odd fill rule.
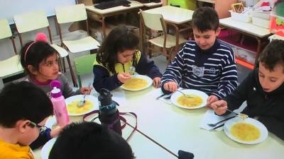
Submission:
[[[6,19],[0,19],[0,40],[6,38],[11,38],[14,55],[8,59],[0,61],[0,90],[4,87],[4,78],[23,73],[23,67],[21,66],[20,57],[17,54],[16,45],[13,40],[9,22]]]

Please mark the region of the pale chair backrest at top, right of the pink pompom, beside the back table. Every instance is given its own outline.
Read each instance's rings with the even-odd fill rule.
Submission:
[[[87,20],[87,12],[84,4],[55,7],[55,14],[60,24]]]

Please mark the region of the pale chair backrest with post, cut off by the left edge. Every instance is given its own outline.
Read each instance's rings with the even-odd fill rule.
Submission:
[[[11,41],[13,43],[13,51],[17,54],[17,49],[15,42],[13,40],[11,28],[7,19],[0,19],[0,40],[5,39],[7,37],[11,37]]]

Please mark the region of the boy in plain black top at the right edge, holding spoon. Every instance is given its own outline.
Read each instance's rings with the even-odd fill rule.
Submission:
[[[284,140],[284,41],[273,40],[259,59],[259,68],[224,100],[212,103],[216,114],[238,109],[246,101],[243,113],[258,119],[273,134]]]

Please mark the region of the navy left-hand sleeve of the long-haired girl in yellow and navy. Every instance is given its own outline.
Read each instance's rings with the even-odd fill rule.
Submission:
[[[99,92],[102,88],[106,88],[108,90],[114,90],[115,88],[118,88],[123,83],[119,81],[117,78],[117,73],[115,73],[113,76],[109,76],[109,71],[105,69],[102,66],[95,65],[93,69],[94,73],[94,89]]]

